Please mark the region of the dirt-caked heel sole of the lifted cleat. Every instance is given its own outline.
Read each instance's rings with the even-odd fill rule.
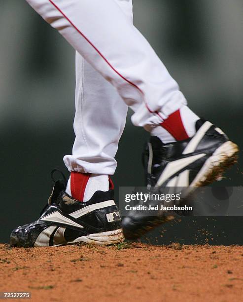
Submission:
[[[233,142],[221,145],[206,160],[190,187],[204,187],[214,181],[221,180],[226,169],[237,163],[239,148]]]

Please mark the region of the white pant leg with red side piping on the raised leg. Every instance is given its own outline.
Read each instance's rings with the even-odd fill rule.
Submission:
[[[135,125],[157,126],[186,105],[177,83],[117,1],[28,2],[115,86],[134,110]]]

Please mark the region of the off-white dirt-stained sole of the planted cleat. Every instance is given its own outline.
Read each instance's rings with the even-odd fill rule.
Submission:
[[[56,244],[53,246],[61,246],[61,245],[68,245],[68,244],[77,244],[81,242],[85,242],[88,244],[96,244],[96,245],[111,245],[111,244],[117,244],[121,243],[125,240],[125,237],[123,235],[122,228],[112,230],[112,231],[106,231],[101,233],[95,233],[95,234],[89,234],[87,236],[81,236],[73,241]]]

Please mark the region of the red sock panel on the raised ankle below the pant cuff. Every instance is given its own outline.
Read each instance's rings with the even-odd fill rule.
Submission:
[[[182,123],[180,110],[169,115],[169,117],[161,123],[161,126],[165,128],[176,141],[183,141],[189,138]]]

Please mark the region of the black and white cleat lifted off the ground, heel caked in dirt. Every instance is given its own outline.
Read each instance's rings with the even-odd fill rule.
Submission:
[[[187,187],[189,193],[206,186],[220,180],[226,168],[237,162],[238,151],[221,129],[202,119],[190,139],[163,144],[152,136],[143,154],[147,189]],[[123,219],[123,232],[128,239],[138,238],[165,221],[166,217],[131,211]]]

